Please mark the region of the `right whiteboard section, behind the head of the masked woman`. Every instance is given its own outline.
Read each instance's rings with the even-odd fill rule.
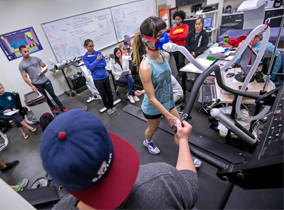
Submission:
[[[134,36],[141,23],[149,16],[154,16],[153,0],[137,1],[111,8],[117,41],[124,40],[124,35]]]

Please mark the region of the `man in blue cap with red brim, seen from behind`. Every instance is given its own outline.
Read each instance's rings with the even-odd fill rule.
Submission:
[[[177,120],[176,167],[139,166],[135,148],[106,130],[93,114],[71,110],[42,135],[40,155],[47,173],[70,194],[53,209],[191,209],[198,180],[188,138],[192,127]]]

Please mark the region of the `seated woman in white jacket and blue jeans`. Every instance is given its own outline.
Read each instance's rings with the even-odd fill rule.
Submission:
[[[114,49],[114,60],[111,61],[111,71],[117,82],[126,83],[128,85],[128,99],[130,103],[135,103],[135,101],[140,101],[140,99],[135,96],[134,91],[134,79],[131,75],[129,69],[129,61],[125,56],[122,56],[122,52],[119,48]],[[127,74],[121,74],[122,72],[128,71]]]

